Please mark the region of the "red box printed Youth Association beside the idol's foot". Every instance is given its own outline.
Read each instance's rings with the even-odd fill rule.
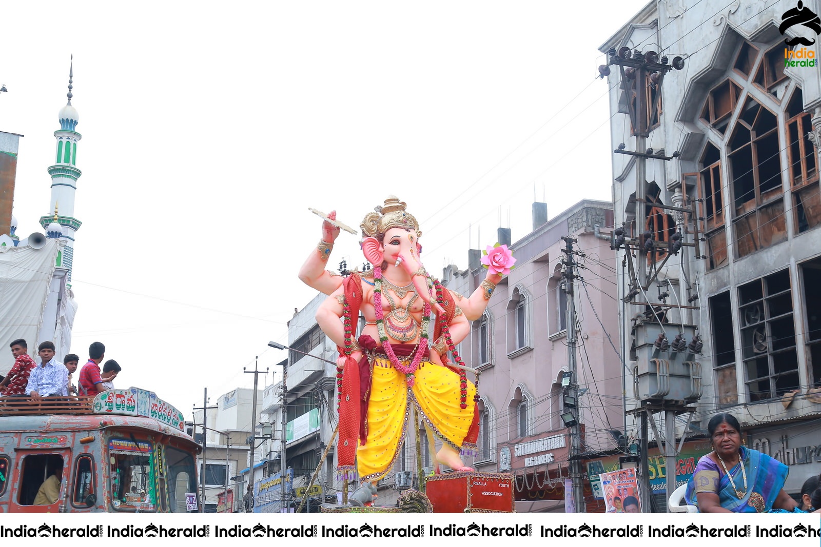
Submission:
[[[444,473],[429,476],[424,489],[433,513],[513,513],[513,480],[507,473]]]

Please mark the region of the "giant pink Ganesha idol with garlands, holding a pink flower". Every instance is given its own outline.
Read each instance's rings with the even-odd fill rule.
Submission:
[[[338,470],[345,478],[356,471],[361,481],[378,481],[391,469],[418,417],[430,446],[442,444],[434,467],[443,463],[473,471],[461,455],[475,449],[479,397],[455,346],[470,332],[469,320],[481,317],[515,258],[507,248],[488,248],[486,279],[470,298],[463,297],[425,270],[422,232],[406,203],[389,196],[375,211],[360,225],[362,252],[372,270],[347,277],[324,270],[339,234],[328,221],[300,270],[307,285],[329,294],[316,320],[339,350]],[[328,217],[335,219],[334,213]],[[360,313],[365,328],[356,333]]]

